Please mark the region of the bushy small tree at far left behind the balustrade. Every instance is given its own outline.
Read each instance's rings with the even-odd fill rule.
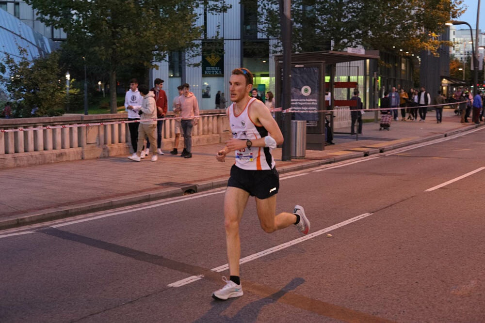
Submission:
[[[55,116],[64,113],[66,92],[64,73],[59,67],[59,53],[53,52],[30,62],[27,50],[19,48],[17,62],[6,55],[7,77],[0,77],[14,102],[16,117]],[[75,91],[72,92],[75,94]]]

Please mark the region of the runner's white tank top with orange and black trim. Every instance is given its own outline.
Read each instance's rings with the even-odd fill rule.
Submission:
[[[258,139],[268,136],[264,127],[256,126],[249,118],[249,109],[256,98],[249,99],[241,114],[234,114],[234,103],[229,106],[229,122],[231,123],[232,138]],[[275,167],[275,160],[268,147],[252,147],[236,150],[236,166],[247,170],[268,170]]]

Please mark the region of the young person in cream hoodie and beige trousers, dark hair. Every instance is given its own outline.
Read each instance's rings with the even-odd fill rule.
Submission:
[[[140,126],[138,128],[138,150],[136,154],[128,158],[133,161],[141,161],[140,155],[143,150],[143,142],[145,141],[145,137],[148,137],[152,153],[151,161],[157,161],[157,103],[155,102],[155,94],[152,91],[148,91],[145,85],[140,85],[138,91],[143,96],[142,106],[140,108]]]

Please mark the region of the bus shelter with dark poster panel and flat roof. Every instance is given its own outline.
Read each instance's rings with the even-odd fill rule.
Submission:
[[[336,106],[352,107],[355,100],[334,100],[333,93],[338,88],[356,88],[356,82],[335,82],[337,63],[378,60],[378,52],[358,54],[338,51],[320,51],[291,54],[291,110],[292,119],[307,122],[307,149],[324,150],[325,148],[325,111]],[[275,56],[275,95],[276,106],[282,102],[283,57]],[[329,82],[325,82],[325,76]],[[325,99],[325,92],[330,94]],[[328,113],[330,131],[333,131],[334,115]],[[276,121],[281,126],[281,112],[276,114]],[[328,128],[327,128],[328,129]]]

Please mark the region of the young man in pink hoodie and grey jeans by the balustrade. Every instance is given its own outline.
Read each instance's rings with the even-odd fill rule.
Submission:
[[[184,150],[180,156],[192,158],[192,129],[199,122],[199,103],[194,93],[190,92],[190,85],[182,84],[183,94],[178,97],[181,108]]]

